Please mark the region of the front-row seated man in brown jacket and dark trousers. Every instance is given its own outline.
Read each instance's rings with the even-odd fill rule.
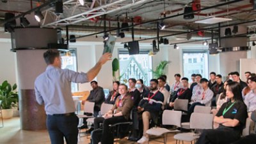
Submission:
[[[110,124],[127,122],[130,117],[133,101],[131,96],[128,94],[127,86],[125,84],[120,84],[118,92],[120,96],[116,98],[113,108],[109,110],[108,113],[105,113],[103,117],[97,117],[94,119],[95,129],[99,129],[100,124],[102,123],[102,137],[100,139],[102,144],[113,143],[113,134],[110,132],[109,127]],[[99,143],[99,140],[92,136],[92,143]]]

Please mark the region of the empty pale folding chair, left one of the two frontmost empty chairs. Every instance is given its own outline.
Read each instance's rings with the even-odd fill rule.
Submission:
[[[164,110],[163,117],[162,117],[162,124],[180,127],[181,115],[182,115],[181,111]],[[152,135],[152,136],[162,136],[164,134],[164,144],[167,141],[167,133],[177,133],[177,132],[180,132],[180,131],[169,130],[163,127],[156,127],[156,128],[148,129],[146,131],[148,135]]]

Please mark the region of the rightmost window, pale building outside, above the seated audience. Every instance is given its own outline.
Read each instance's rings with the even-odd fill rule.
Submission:
[[[183,50],[183,75],[190,79],[193,73],[207,78],[208,54],[205,50]],[[193,59],[193,62],[191,62]],[[200,61],[197,61],[200,60]],[[188,63],[187,63],[188,62]]]

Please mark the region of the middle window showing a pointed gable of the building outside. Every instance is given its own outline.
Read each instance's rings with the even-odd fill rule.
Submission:
[[[129,78],[135,78],[142,79],[145,85],[149,85],[152,79],[152,57],[148,55],[149,51],[140,50],[138,55],[129,55],[127,50],[118,50],[121,83],[126,83]]]

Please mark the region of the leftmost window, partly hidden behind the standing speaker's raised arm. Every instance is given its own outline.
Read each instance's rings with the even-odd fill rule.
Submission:
[[[77,71],[77,57],[76,57],[76,49],[70,49],[67,52],[61,52],[61,68],[62,69],[70,69],[72,71]],[[78,87],[77,83],[71,83],[71,91],[77,92]]]

